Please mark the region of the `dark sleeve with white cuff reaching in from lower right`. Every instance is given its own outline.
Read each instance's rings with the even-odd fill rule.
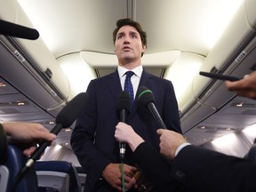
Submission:
[[[197,191],[256,191],[255,163],[192,145],[175,157],[172,175]]]

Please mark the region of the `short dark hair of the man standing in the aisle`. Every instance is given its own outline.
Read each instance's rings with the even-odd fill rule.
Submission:
[[[132,26],[133,28],[136,28],[137,31],[140,34],[140,38],[141,38],[141,42],[143,45],[145,45],[147,47],[147,34],[146,31],[143,31],[140,23],[137,21],[134,21],[132,19],[126,18],[126,19],[121,19],[121,20],[117,20],[116,21],[116,28],[113,31],[113,42],[114,44],[116,43],[116,35],[117,35],[117,31],[122,28],[123,26]]]

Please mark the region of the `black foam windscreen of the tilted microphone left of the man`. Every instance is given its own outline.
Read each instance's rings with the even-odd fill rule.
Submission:
[[[88,95],[86,92],[77,94],[56,116],[56,124],[62,124],[63,128],[67,128],[73,124],[82,109],[85,108],[87,100]]]

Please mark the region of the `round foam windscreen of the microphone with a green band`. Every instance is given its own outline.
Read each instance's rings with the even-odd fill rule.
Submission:
[[[137,91],[136,100],[140,100],[142,105],[147,106],[148,103],[155,103],[155,97],[153,92],[151,92],[147,87],[140,86]]]

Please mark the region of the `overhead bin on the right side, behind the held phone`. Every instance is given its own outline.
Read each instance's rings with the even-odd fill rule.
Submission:
[[[207,55],[199,71],[219,73],[243,78],[252,73],[256,63],[256,1],[247,0],[241,4],[234,19],[224,31],[220,40]],[[183,132],[212,115],[236,96],[228,92],[223,81],[209,77],[195,76],[192,97],[196,102],[180,114]]]

